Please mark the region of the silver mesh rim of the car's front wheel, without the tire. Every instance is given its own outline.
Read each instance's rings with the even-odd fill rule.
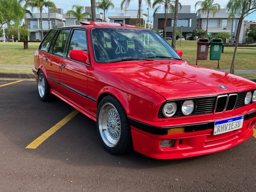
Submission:
[[[109,102],[102,105],[98,115],[100,136],[108,147],[115,147],[121,136],[121,122],[115,106]]]

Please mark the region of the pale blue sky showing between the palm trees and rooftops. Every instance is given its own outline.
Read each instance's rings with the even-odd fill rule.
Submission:
[[[82,5],[82,6],[90,6],[91,2],[90,0],[52,0],[57,8],[62,8],[64,10],[64,12],[66,12],[67,10],[71,10],[71,6],[73,4],[78,4],[78,5]],[[182,5],[190,5],[191,6],[191,12],[196,12],[195,10],[195,4],[198,0],[179,0],[179,2]],[[113,4],[115,7],[120,7],[120,0],[112,0]],[[143,10],[146,14],[147,13],[147,6],[146,6],[146,1],[142,0],[142,5],[143,5]],[[153,2],[153,0],[151,0],[151,2]],[[214,0],[214,3],[218,3],[220,4],[221,8],[225,8],[226,4],[228,3],[228,0]],[[197,8],[197,10],[200,7]],[[130,2],[130,6],[128,7],[128,9],[130,10],[134,10],[134,9],[138,9],[138,0],[131,0]],[[96,13],[100,13],[102,12],[102,10],[96,10]],[[108,10],[108,12],[106,12],[106,16],[108,16],[110,13],[113,13],[114,10]],[[152,8],[149,9],[149,20],[153,22],[153,15],[154,10]],[[256,21],[256,12],[250,14],[250,16],[248,16],[247,18],[245,18],[245,20],[253,20]]]

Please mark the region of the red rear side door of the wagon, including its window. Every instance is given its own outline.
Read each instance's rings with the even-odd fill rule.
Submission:
[[[60,63],[64,55],[64,49],[70,29],[59,30],[55,35],[49,52],[45,55],[44,68],[47,72],[48,83],[53,91],[60,93]]]

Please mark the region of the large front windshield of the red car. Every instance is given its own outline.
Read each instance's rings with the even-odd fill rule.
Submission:
[[[156,32],[133,28],[93,28],[93,54],[96,62],[180,59]]]

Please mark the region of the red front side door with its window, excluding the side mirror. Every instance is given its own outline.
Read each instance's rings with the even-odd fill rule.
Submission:
[[[83,50],[87,52],[86,35],[85,29],[74,28],[72,30],[66,47],[66,55],[60,64],[60,82],[63,96],[78,106],[89,110],[87,81],[90,65],[70,58],[70,50]]]

